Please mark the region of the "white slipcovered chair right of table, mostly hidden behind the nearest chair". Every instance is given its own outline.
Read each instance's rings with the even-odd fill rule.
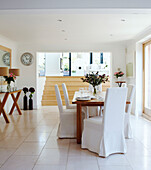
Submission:
[[[133,138],[130,115],[131,115],[131,108],[132,108],[132,101],[133,101],[134,93],[135,93],[135,86],[128,85],[127,100],[130,101],[130,104],[126,105],[125,120],[124,120],[124,134],[125,134],[125,138],[128,138],[128,139]]]

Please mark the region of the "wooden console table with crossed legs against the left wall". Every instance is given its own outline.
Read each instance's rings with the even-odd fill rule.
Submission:
[[[18,103],[17,103],[21,92],[22,92],[22,89],[16,90],[16,91],[11,91],[11,92],[0,92],[0,94],[5,94],[3,100],[0,101],[0,115],[1,114],[3,115],[6,123],[9,123],[9,119],[7,117],[7,114],[6,114],[5,110],[4,110],[4,106],[5,106],[6,102],[7,102],[9,94],[12,96],[12,99],[14,101],[13,106],[12,106],[10,112],[9,112],[9,115],[12,115],[12,113],[13,113],[13,111],[15,109],[15,106],[17,108],[17,111],[18,111],[19,115],[22,115],[21,110],[20,110],[20,108],[18,106]],[[14,93],[17,93],[16,97],[14,96]]]

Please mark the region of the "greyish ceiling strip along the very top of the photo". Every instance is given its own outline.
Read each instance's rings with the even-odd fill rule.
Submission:
[[[0,9],[145,8],[150,0],[1,0]]]

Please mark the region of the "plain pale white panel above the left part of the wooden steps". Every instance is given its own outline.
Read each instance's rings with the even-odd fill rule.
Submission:
[[[61,53],[46,53],[46,76],[60,75]]]

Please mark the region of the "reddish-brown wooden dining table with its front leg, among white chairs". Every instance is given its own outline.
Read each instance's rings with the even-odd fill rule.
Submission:
[[[99,93],[100,99],[92,99],[92,100],[76,100],[77,97],[80,96],[79,92],[75,92],[72,104],[77,105],[77,143],[81,144],[82,137],[82,106],[104,106],[105,100],[105,92]],[[129,101],[126,101],[126,104],[130,104]]]

